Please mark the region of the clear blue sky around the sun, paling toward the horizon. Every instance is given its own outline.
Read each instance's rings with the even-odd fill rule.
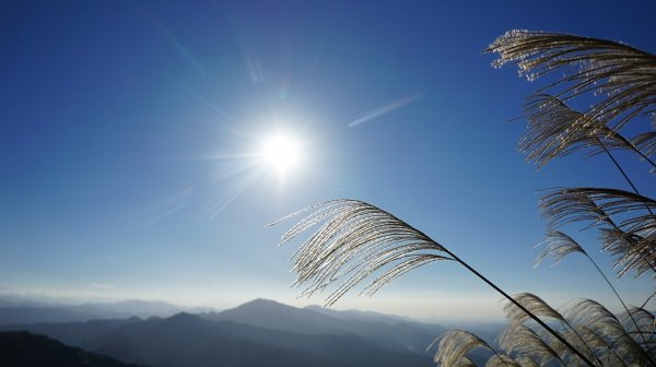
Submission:
[[[654,4],[437,1],[10,1],[0,5],[0,293],[304,305],[294,245],[265,224],[361,199],[422,229],[509,293],[613,299],[581,258],[532,269],[537,190],[626,188],[604,157],[537,170],[516,142],[541,82],[481,51],[512,28],[656,51]],[[303,164],[254,158],[288,131]],[[644,193],[643,166],[620,156]],[[652,190],[652,192],[649,192]],[[290,223],[289,225],[291,225]],[[574,232],[602,264],[593,233]],[[297,244],[296,244],[297,245]],[[608,267],[606,267],[608,269]],[[621,281],[642,303],[652,285]],[[455,264],[358,307],[423,319],[501,315]]]

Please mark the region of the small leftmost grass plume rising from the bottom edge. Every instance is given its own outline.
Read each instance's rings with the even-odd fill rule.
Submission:
[[[469,366],[471,359],[467,355],[479,347],[494,352],[484,340],[462,330],[445,332],[429,345],[426,352],[434,345],[437,345],[437,352],[433,360],[437,366]]]

